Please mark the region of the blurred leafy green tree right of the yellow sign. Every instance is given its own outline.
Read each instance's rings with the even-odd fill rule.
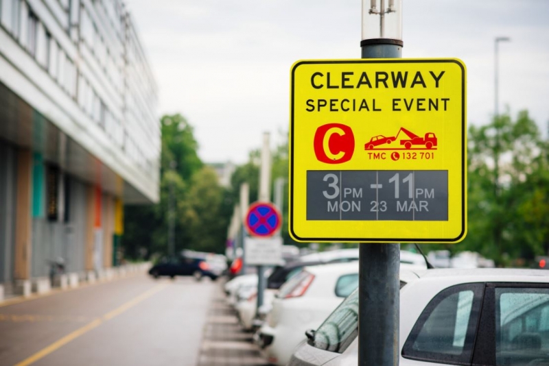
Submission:
[[[527,111],[514,121],[507,113],[489,125],[469,127],[469,230],[456,249],[480,252],[499,264],[543,252],[547,221],[541,202],[548,197],[544,151],[546,144]]]

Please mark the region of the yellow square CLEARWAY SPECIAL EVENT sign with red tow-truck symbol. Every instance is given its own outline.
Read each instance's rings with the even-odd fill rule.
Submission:
[[[465,64],[303,60],[290,90],[296,241],[456,243],[467,233]]]

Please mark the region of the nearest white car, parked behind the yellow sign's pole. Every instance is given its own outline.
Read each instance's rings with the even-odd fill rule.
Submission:
[[[429,269],[415,274],[400,291],[399,365],[549,365],[545,271]],[[354,291],[316,331],[307,331],[308,340],[288,365],[356,366],[357,334]]]

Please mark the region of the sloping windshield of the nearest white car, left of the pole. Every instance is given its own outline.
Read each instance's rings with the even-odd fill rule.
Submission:
[[[406,282],[400,282],[400,288]],[[356,288],[356,287],[355,287]],[[309,344],[320,350],[342,353],[358,334],[358,289],[355,289],[316,330]]]

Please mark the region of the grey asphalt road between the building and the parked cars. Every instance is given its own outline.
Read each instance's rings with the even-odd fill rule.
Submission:
[[[214,286],[137,275],[0,303],[0,365],[194,366]]]

